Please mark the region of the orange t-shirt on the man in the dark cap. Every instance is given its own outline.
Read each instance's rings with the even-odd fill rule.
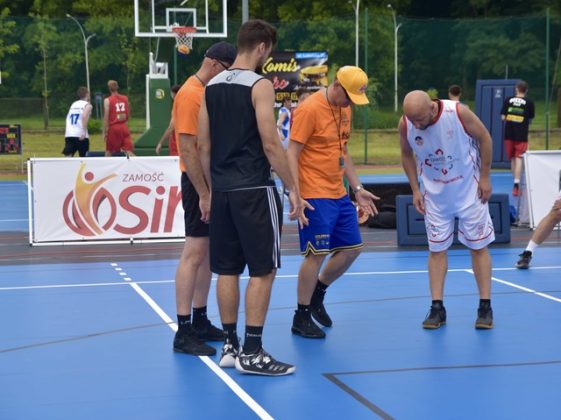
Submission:
[[[199,109],[205,91],[204,85],[196,76],[189,77],[173,100],[173,123],[175,126],[175,141],[177,150],[179,147],[179,135],[189,134],[196,136],[199,126]],[[186,166],[179,153],[179,168],[185,172]]]

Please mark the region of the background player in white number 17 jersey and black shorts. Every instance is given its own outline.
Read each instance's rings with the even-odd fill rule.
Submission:
[[[88,120],[92,112],[90,104],[90,92],[84,86],[80,86],[76,92],[79,100],[70,105],[66,115],[66,131],[64,133],[64,149],[62,154],[72,157],[76,152],[80,157],[86,156],[90,149],[88,135]]]

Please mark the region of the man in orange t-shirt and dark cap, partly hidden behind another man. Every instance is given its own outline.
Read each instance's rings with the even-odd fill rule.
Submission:
[[[212,274],[208,260],[209,229],[202,220],[199,206],[208,205],[210,191],[202,175],[197,149],[198,117],[205,85],[229,68],[235,58],[236,49],[231,44],[213,44],[205,53],[199,70],[187,79],[173,102],[172,119],[180,156],[185,211],[185,246],[175,274],[178,330],[173,349],[198,356],[216,353],[216,349],[204,341],[224,340],[223,331],[212,325],[206,314]]]

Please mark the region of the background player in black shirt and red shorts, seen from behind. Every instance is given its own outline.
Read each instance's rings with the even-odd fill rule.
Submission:
[[[526,97],[528,83],[521,80],[516,84],[516,94],[507,98],[501,109],[501,118],[505,121],[505,152],[510,159],[510,168],[514,177],[512,195],[520,195],[520,175],[522,174],[522,155],[528,150],[528,128],[534,118],[534,103]]]

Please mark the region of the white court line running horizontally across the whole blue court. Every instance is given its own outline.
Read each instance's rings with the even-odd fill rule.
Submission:
[[[116,266],[116,264],[115,264]],[[542,266],[542,267],[535,267],[532,266],[531,270],[558,270],[561,269],[561,265],[551,265],[551,266]],[[517,271],[518,268],[514,267],[502,267],[502,268],[493,268],[493,271]],[[471,269],[469,268],[451,268],[448,272],[469,272],[471,273]],[[385,276],[390,274],[427,274],[428,270],[409,270],[409,271],[361,271],[350,273],[347,272],[345,276]],[[297,274],[278,274],[275,278],[276,279],[292,279],[297,278]],[[242,276],[240,279],[247,280],[248,276]],[[130,277],[127,277],[125,280],[132,281]],[[212,281],[216,281],[216,277],[213,276]],[[175,280],[144,280],[144,281],[136,281],[136,284],[165,284],[165,283],[173,283]],[[60,288],[72,288],[72,287],[96,287],[96,286],[123,286],[126,283],[121,282],[105,282],[105,283],[78,283],[78,284],[44,284],[44,285],[35,285],[35,286],[5,286],[0,287],[0,292],[2,291],[10,291],[10,290],[33,290],[33,289],[60,289]],[[522,286],[521,286],[522,287]],[[538,292],[539,293],[539,292]]]

